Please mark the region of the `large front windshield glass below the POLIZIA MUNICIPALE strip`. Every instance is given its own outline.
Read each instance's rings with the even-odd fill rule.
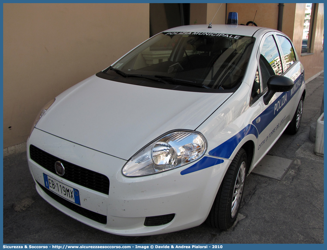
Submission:
[[[254,38],[219,33],[163,32],[112,65],[123,77],[232,90],[242,81]]]

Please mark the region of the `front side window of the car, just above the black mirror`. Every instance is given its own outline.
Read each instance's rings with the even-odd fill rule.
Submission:
[[[282,60],[272,35],[266,38],[262,46],[259,65],[263,89],[267,87],[270,76],[283,74]]]

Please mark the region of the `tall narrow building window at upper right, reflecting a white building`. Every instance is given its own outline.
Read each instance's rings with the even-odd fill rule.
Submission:
[[[305,4],[301,54],[313,53],[312,37],[313,37],[315,12],[316,12],[316,4],[314,3]]]

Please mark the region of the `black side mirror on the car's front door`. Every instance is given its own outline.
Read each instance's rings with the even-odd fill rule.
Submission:
[[[293,88],[294,82],[284,76],[273,75],[267,80],[268,92],[264,96],[264,103],[267,105],[276,92],[286,92]]]

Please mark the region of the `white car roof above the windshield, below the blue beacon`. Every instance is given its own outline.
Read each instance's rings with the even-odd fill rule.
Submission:
[[[270,28],[246,26],[246,25],[212,25],[212,28],[208,28],[208,25],[185,25],[180,27],[171,28],[164,32],[204,32],[204,33],[222,33],[233,34],[241,36],[260,36],[262,33],[268,31],[277,31]]]

